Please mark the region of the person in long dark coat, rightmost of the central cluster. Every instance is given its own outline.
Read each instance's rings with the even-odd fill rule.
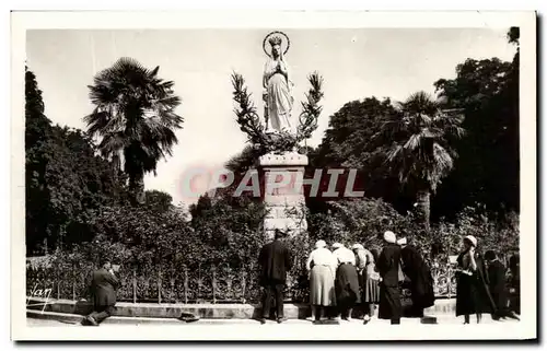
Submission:
[[[403,246],[400,250],[401,269],[410,280],[411,317],[423,317],[423,309],[435,303],[431,270],[414,245],[411,237],[405,237],[398,243]]]

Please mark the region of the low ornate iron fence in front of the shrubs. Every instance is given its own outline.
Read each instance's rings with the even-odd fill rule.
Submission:
[[[453,264],[431,262],[437,297],[456,294]],[[118,279],[118,301],[150,303],[257,303],[261,291],[254,265],[231,267],[181,266],[170,269],[149,269],[147,272],[121,269]],[[27,296],[80,300],[89,296],[89,279],[93,267],[27,267]],[[305,274],[290,274],[287,301],[307,302],[309,280]]]

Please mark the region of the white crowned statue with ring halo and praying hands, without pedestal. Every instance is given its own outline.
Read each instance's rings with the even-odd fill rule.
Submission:
[[[286,37],[284,50],[283,39],[277,34]],[[267,43],[270,46],[269,50],[266,47]],[[289,37],[282,32],[270,33],[264,39],[264,50],[268,56],[263,75],[266,132],[293,131],[291,124],[291,110],[294,103],[292,97],[293,84],[289,65],[284,59],[289,45]]]

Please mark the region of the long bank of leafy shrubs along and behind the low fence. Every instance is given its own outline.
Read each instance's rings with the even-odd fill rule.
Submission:
[[[313,242],[325,239],[348,246],[361,243],[380,248],[382,234],[415,234],[431,265],[438,294],[454,292],[449,256],[457,255],[462,237],[475,235],[479,249],[494,249],[503,258],[519,250],[519,217],[489,219],[480,208],[467,208],[455,223],[440,222],[424,233],[411,213],[401,215],[381,200],[361,199],[329,204],[329,212],[309,213],[309,233],[287,239],[293,255],[287,297],[306,302],[305,261]],[[101,257],[121,265],[120,301],[140,302],[259,302],[257,258],[264,245],[264,207],[240,199],[212,199],[194,212],[191,222],[170,210],[108,208],[95,219],[100,233],[91,243],[57,250],[48,266],[27,270],[27,291],[38,284],[53,288],[54,297],[78,299]],[[432,255],[440,244],[439,255]]]

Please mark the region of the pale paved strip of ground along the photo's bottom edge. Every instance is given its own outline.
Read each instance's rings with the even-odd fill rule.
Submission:
[[[28,326],[32,326],[32,327],[80,327],[80,325],[78,324],[68,324],[68,323],[61,323],[61,321],[57,321],[57,320],[49,320],[49,319],[34,319],[34,318],[26,318],[26,323]],[[340,323],[340,326],[337,326],[337,325],[334,325],[333,327],[341,327],[344,326],[345,324],[350,324],[350,325],[359,325],[359,324],[362,324],[363,321],[360,320],[360,319],[353,319],[351,321],[341,321]],[[415,325],[415,324],[419,324],[419,319],[411,319],[411,318],[403,318],[400,324],[401,325]],[[475,320],[472,319],[472,325],[474,325]],[[517,320],[513,320],[513,319],[507,319],[507,320],[502,320],[502,321],[496,321],[496,320],[492,320],[490,318],[490,316],[484,316],[484,320],[482,320],[482,324],[515,324],[515,323],[519,323]],[[252,319],[201,319],[199,321],[195,321],[195,323],[191,323],[191,324],[185,324],[185,323],[181,323],[181,326],[186,326],[186,325],[257,325],[258,321],[256,320],[252,320]],[[287,325],[311,325],[312,321],[311,319],[290,319],[288,321],[286,321],[284,324]],[[382,320],[382,319],[373,319],[371,321],[371,324],[374,324],[374,325],[377,325],[377,324],[382,324],[382,325],[386,325],[388,326],[389,325],[389,321],[388,320]],[[438,316],[438,324],[443,324],[443,325],[461,325],[463,324],[463,318],[456,318],[455,316],[450,316],[450,315],[444,315],[444,316]],[[106,328],[110,328],[110,327],[116,327],[116,326],[138,326],[139,323],[135,323],[135,324],[128,324],[128,323],[124,323],[124,324],[103,324],[101,327],[106,327]],[[277,325],[274,320],[268,320],[266,326],[269,326],[269,325]]]

